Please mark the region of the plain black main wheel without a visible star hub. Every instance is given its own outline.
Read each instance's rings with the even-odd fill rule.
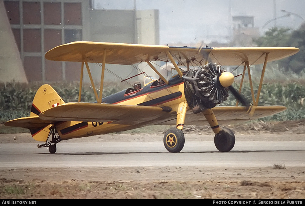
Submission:
[[[235,144],[235,135],[229,128],[222,128],[214,137],[214,143],[217,150],[221,152],[228,152],[233,149]]]

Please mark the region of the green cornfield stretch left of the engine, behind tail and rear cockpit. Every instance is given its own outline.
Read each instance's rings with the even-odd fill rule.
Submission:
[[[17,82],[0,84],[0,123],[11,119],[30,116],[30,110],[36,91],[43,85],[41,82],[22,84]],[[77,102],[79,82],[49,83],[64,102]],[[91,84],[90,84],[91,85]],[[82,87],[82,102],[95,102],[92,87],[84,84]],[[96,88],[98,84],[96,84]],[[106,83],[103,96],[119,92],[120,87],[113,82]]]

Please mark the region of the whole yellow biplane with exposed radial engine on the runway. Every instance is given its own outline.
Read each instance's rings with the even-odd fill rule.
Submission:
[[[78,102],[65,103],[50,85],[42,85],[34,97],[30,117],[14,119],[5,125],[29,128],[35,140],[45,142],[38,147],[48,147],[53,154],[61,140],[125,131],[145,125],[176,125],[165,132],[163,143],[169,152],[179,152],[185,143],[183,126],[207,122],[215,133],[216,148],[228,152],[235,144],[234,133],[228,128],[220,128],[218,123],[248,121],[285,110],[283,106],[258,106],[258,99],[266,63],[298,51],[293,47],[189,48],[71,42],[51,49],[45,58],[81,62]],[[165,78],[152,65],[155,61],[172,63],[176,75]],[[137,91],[128,93],[127,89],[102,98],[106,64],[133,65],[141,62],[147,63],[160,76],[162,84],[146,78],[143,88]],[[99,94],[88,63],[102,63]],[[256,97],[249,66],[255,64],[263,64]],[[84,65],[96,103],[81,102]],[[244,66],[239,91],[232,86],[234,75],[221,67],[229,65]],[[185,70],[181,70],[181,67]],[[252,103],[240,94],[246,71]],[[236,106],[215,107],[228,98],[229,92],[237,99]]]

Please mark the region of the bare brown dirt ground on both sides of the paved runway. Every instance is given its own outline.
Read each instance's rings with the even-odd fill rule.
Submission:
[[[305,120],[228,127],[236,141],[305,141]],[[189,127],[184,132],[188,141],[198,141],[199,134],[211,134],[206,141],[213,140],[209,128]],[[243,138],[245,133],[253,134],[253,139]],[[68,141],[160,141],[162,137],[112,134]],[[30,134],[0,134],[2,144],[29,142],[35,142]],[[0,168],[0,183],[1,199],[303,200],[305,167]]]

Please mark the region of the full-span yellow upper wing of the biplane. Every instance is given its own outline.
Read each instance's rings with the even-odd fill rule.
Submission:
[[[45,58],[55,61],[102,63],[106,52],[106,63],[135,64],[143,61],[168,61],[167,52],[179,63],[210,61],[221,65],[239,65],[249,61],[249,65],[264,63],[265,53],[269,53],[268,61],[279,60],[291,56],[300,49],[293,47],[228,47],[228,48],[190,48],[169,47],[162,45],[139,45],[104,42],[71,42],[57,46],[45,54]]]

